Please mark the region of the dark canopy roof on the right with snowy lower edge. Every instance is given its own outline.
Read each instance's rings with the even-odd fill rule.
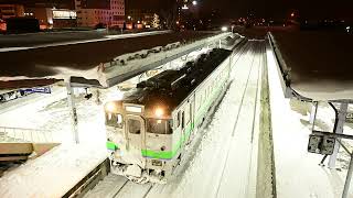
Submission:
[[[274,32],[291,88],[313,100],[353,100],[353,34]]]

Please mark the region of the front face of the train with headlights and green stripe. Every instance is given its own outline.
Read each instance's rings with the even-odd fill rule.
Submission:
[[[141,177],[143,170],[161,176],[172,170],[173,121],[169,108],[111,101],[105,106],[105,117],[113,169],[133,177]],[[131,173],[129,165],[139,167]]]

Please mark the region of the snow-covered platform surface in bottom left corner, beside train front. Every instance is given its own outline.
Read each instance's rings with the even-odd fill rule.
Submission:
[[[105,146],[64,144],[0,177],[0,195],[62,197],[107,158]]]

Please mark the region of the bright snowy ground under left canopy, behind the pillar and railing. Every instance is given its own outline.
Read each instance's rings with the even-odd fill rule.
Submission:
[[[66,88],[55,87],[50,97],[18,103],[15,109],[0,114],[1,127],[41,129],[52,133],[55,142],[72,142],[71,117],[67,107]],[[104,144],[104,117],[101,106],[83,96],[77,102],[78,132],[82,142]],[[6,103],[4,103],[6,105]]]

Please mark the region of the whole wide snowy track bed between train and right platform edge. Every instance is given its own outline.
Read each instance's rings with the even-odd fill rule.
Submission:
[[[193,151],[195,154],[190,164],[167,185],[156,185],[148,197],[255,195],[252,191],[254,178],[250,178],[254,176],[252,167],[257,165],[257,162],[252,162],[250,142],[259,72],[259,55],[253,54],[255,43],[252,42],[252,47],[233,65],[234,81],[205,132],[197,132],[204,135],[200,146]],[[254,133],[256,134],[257,132]]]

